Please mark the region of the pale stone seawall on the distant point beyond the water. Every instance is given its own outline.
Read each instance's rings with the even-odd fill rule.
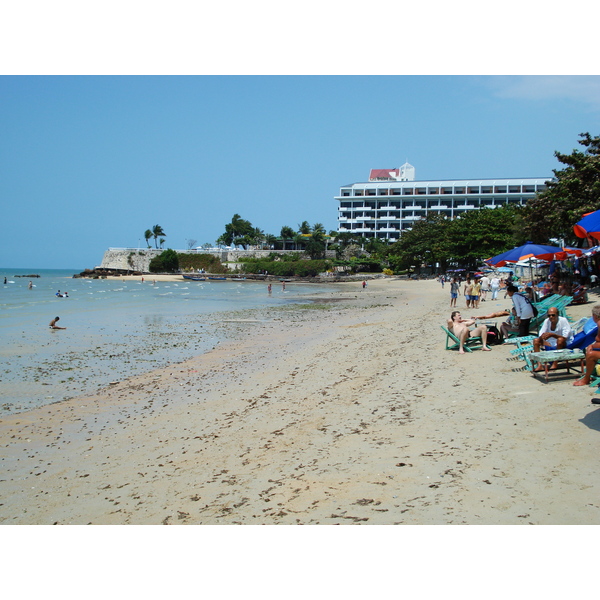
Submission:
[[[150,261],[163,250],[154,248],[109,248],[102,257],[99,269],[124,269],[148,273]],[[222,263],[237,262],[242,256],[266,258],[269,254],[298,254],[298,250],[175,250],[179,254],[211,254]],[[328,250],[327,258],[335,258],[335,252]],[[232,266],[232,265],[230,265]]]

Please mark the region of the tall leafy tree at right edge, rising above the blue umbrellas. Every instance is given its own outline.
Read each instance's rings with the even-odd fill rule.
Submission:
[[[554,156],[564,169],[553,169],[556,180],[549,181],[545,191],[527,203],[524,211],[523,232],[536,243],[551,238],[575,243],[579,240],[573,225],[584,214],[598,210],[600,203],[600,137],[580,133],[579,144],[584,151],[571,154],[555,152]]]

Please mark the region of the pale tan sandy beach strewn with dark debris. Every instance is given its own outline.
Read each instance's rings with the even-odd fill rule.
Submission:
[[[600,523],[594,388],[518,371],[511,347],[446,351],[436,281],[344,286],[249,312],[185,363],[3,417],[0,523]]]

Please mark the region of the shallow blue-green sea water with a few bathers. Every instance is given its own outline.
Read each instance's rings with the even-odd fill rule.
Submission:
[[[73,279],[77,272],[0,269],[0,418],[202,354],[234,333],[223,325],[232,312],[331,291],[272,282],[269,295],[260,282]],[[49,328],[56,316],[66,330]]]

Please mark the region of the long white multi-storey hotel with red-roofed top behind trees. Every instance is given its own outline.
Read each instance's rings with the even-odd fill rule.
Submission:
[[[467,210],[525,204],[546,189],[550,177],[522,179],[415,180],[415,168],[372,169],[369,181],[340,188],[338,231],[397,240],[429,213],[450,219]]]

